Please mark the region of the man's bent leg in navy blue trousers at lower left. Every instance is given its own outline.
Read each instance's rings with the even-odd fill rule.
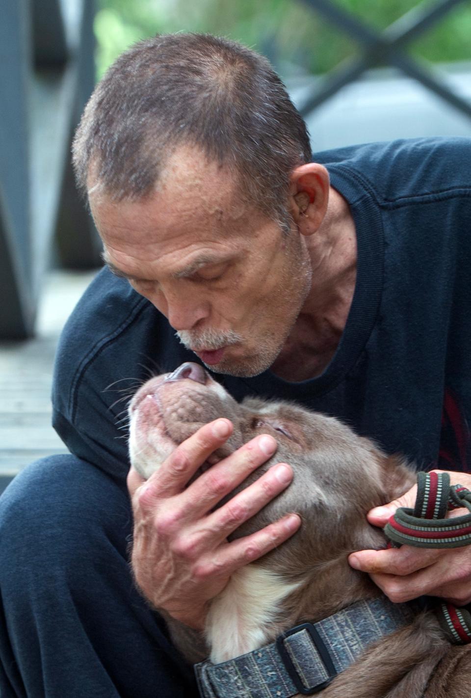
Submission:
[[[0,692],[196,695],[128,565],[126,490],[89,463],[33,463],[0,498]],[[26,688],[22,688],[26,687]],[[8,695],[8,693],[7,693]],[[159,694],[160,695],[160,694]]]

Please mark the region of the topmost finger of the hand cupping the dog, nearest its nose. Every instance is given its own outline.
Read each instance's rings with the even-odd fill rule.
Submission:
[[[216,419],[204,424],[187,438],[162,463],[147,481],[158,497],[171,497],[181,492],[204,461],[225,443],[232,433],[229,419]]]

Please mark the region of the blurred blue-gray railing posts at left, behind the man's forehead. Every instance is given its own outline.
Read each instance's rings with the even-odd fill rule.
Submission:
[[[0,338],[33,334],[52,250],[98,264],[70,141],[94,87],[93,0],[6,0],[0,22]],[[52,242],[55,242],[54,246]]]

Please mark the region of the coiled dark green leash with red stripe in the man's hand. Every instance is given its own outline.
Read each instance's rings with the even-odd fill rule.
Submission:
[[[452,509],[465,507],[468,514],[446,519]],[[448,473],[417,473],[414,509],[400,507],[384,527],[391,547],[459,548],[471,544],[471,492],[461,484],[450,485]],[[471,642],[471,614],[447,602],[435,609],[450,642]]]

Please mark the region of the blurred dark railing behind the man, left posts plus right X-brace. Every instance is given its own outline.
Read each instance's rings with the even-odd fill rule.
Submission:
[[[465,0],[419,4],[384,31],[334,0],[302,0],[361,47],[317,80],[306,115],[368,68],[389,64],[471,118],[471,104],[436,68],[414,60],[410,42]],[[99,264],[98,237],[75,191],[73,131],[94,86],[94,0],[6,0],[0,22],[0,339],[34,329],[41,280],[52,255],[65,267]]]

